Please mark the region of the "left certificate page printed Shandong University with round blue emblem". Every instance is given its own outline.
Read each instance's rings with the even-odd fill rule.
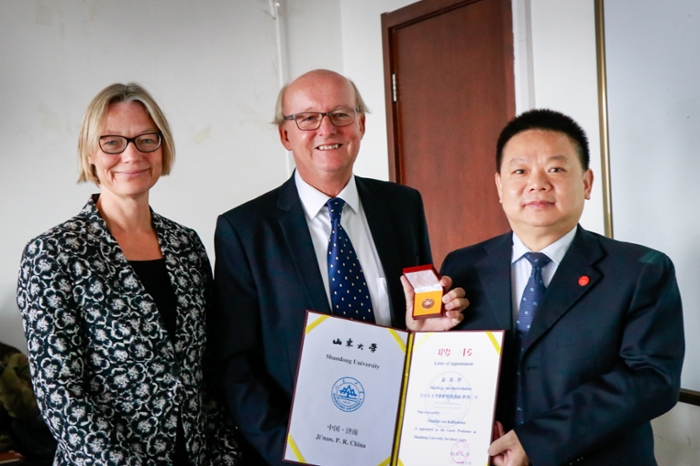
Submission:
[[[388,465],[408,333],[307,313],[286,461]]]

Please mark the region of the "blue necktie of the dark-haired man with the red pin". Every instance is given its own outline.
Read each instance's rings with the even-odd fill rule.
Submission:
[[[544,280],[542,279],[542,268],[551,262],[551,259],[541,252],[528,252],[525,253],[524,257],[532,265],[532,272],[530,272],[530,278],[527,281],[527,285],[525,285],[523,297],[520,300],[520,310],[518,311],[518,320],[516,322],[515,341],[518,349],[518,369],[516,373],[518,378],[518,393],[515,409],[516,424],[522,424],[524,421],[522,410],[523,385],[520,375],[520,357],[523,351],[522,344],[527,332],[530,330],[532,319],[535,318],[535,314],[537,313],[537,305],[540,303],[547,290],[547,287],[544,286]]]

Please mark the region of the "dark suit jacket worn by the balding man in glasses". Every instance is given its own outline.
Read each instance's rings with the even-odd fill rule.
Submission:
[[[399,277],[432,262],[418,191],[356,177],[387,278],[392,325],[405,328]],[[306,310],[330,313],[294,177],[219,217],[218,332],[228,407],[245,438],[282,464]]]

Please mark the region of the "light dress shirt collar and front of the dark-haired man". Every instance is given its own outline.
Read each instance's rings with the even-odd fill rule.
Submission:
[[[557,271],[559,264],[561,264],[561,260],[564,258],[566,251],[569,250],[569,246],[571,246],[571,242],[574,240],[574,236],[576,236],[576,228],[577,227],[574,227],[573,230],[543,250],[539,251],[546,254],[547,257],[551,259],[549,264],[542,267],[542,280],[544,281],[544,286],[549,286],[549,282],[552,281],[554,272]],[[518,312],[520,311],[520,301],[523,298],[525,285],[527,285],[527,281],[530,279],[530,274],[532,273],[532,264],[530,264],[530,261],[524,257],[525,253],[527,252],[533,251],[528,249],[520,238],[518,238],[518,235],[513,233],[513,252],[510,262],[510,282],[512,284],[511,296],[513,296],[513,317],[516,318],[515,320],[517,320]]]

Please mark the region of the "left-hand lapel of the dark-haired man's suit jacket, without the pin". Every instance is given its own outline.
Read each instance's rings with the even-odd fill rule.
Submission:
[[[487,255],[475,265],[481,288],[500,328],[513,325],[513,307],[510,284],[510,259],[513,248],[512,233],[506,233],[486,246]],[[468,313],[469,309],[465,311]]]

